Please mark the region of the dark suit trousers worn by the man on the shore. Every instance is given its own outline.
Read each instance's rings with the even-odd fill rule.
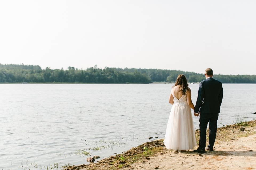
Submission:
[[[206,129],[209,122],[209,145],[213,147],[216,139],[217,121],[219,113],[217,114],[200,114],[199,127],[200,127],[200,139],[199,147],[205,148],[206,143]]]

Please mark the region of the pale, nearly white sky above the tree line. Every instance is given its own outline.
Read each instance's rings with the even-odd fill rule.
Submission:
[[[256,74],[256,1],[1,0],[0,63]]]

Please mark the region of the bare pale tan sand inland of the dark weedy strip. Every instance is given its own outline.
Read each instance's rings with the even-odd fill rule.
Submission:
[[[164,149],[124,169],[256,169],[256,135],[216,143],[214,152],[178,153]],[[248,151],[252,150],[252,151]]]

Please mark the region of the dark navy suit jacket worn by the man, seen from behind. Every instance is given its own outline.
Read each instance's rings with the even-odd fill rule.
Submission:
[[[222,83],[212,77],[199,84],[195,113],[217,114],[223,98]]]

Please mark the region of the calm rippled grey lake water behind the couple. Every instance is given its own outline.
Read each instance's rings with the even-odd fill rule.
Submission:
[[[164,138],[171,86],[0,84],[0,169],[85,164],[85,150],[102,159]],[[195,104],[198,84],[189,87]],[[237,115],[256,117],[255,87],[223,84],[218,126],[236,122]],[[193,121],[198,128],[199,117]]]

